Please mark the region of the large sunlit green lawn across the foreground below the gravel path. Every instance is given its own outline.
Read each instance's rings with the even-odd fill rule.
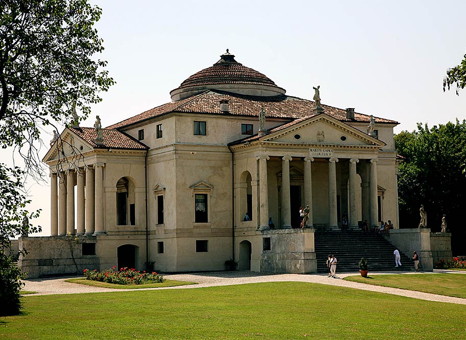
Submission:
[[[306,282],[24,297],[9,339],[461,339],[464,305]]]

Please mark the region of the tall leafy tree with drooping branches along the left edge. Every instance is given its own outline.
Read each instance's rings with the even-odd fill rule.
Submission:
[[[107,62],[95,59],[104,49],[93,28],[101,14],[87,0],[0,0],[0,145],[12,148],[25,164],[24,169],[0,164],[2,280],[19,283],[17,272],[5,269],[13,264],[10,238],[39,230],[23,223],[38,214],[27,211],[23,181],[26,175],[43,175],[42,129],[85,119],[91,104],[102,100],[99,92],[114,84],[104,69]],[[74,107],[79,117],[72,116]],[[15,299],[20,284],[11,286]],[[12,305],[8,301],[0,296],[0,305]],[[5,312],[17,312],[17,302]]]

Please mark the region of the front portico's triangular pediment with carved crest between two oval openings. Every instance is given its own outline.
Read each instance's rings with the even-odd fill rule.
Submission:
[[[282,128],[278,127],[260,140],[292,144],[385,145],[382,141],[326,114],[289,123]]]

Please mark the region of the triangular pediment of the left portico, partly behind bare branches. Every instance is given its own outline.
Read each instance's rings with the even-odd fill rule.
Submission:
[[[91,151],[93,147],[84,141],[81,137],[73,133],[70,129],[65,128],[58,139],[51,143],[51,147],[45,154],[42,162],[51,162],[70,156],[76,156],[81,153]]]

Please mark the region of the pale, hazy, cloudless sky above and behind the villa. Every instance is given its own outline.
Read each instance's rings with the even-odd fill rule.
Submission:
[[[466,118],[466,89],[443,92],[449,67],[466,54],[465,1],[91,0],[99,56],[116,81],[81,126],[108,126],[170,101],[169,92],[229,48],[236,61],[287,95],[393,119],[395,133]],[[43,135],[45,145],[52,134]],[[42,148],[40,155],[46,153]],[[11,155],[0,153],[2,161]],[[45,178],[48,179],[48,178]],[[29,180],[50,234],[50,187]]]

